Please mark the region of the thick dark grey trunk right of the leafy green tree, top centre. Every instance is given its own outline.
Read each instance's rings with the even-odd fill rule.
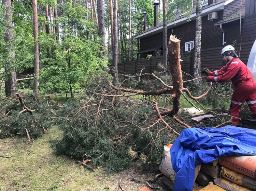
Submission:
[[[105,22],[104,22],[104,1],[103,0],[97,0],[97,12],[98,12],[98,20],[99,20],[99,36],[103,38],[101,45],[103,46],[103,49],[101,51],[103,52],[103,56],[106,56],[105,51]]]

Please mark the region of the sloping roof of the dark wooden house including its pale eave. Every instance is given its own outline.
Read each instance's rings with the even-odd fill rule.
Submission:
[[[227,4],[231,3],[232,1],[234,1],[234,0],[215,0],[215,2],[212,3],[211,5],[208,5],[208,3],[202,5],[202,16],[205,16],[213,11],[223,10],[224,5],[227,5]],[[174,19],[169,20],[168,24],[167,24],[167,29],[170,29],[174,26],[186,23],[187,19],[190,19],[190,20],[196,19],[196,7],[194,7],[191,10],[190,18],[185,17],[185,13],[182,13],[182,14],[176,15],[174,17]],[[146,31],[139,33],[138,35],[134,36],[133,39],[151,36],[153,34],[162,32],[162,30],[163,30],[163,22],[161,21],[158,23],[158,25],[156,27],[151,27],[151,28],[147,29]]]

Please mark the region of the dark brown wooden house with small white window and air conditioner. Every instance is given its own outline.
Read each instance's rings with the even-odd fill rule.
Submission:
[[[158,4],[155,6],[158,6]],[[157,10],[158,7],[155,8],[156,12]],[[194,70],[193,48],[196,31],[195,12],[196,7],[191,10],[189,21],[184,14],[180,14],[176,15],[175,18],[170,20],[167,24],[167,37],[172,33],[181,40],[182,70],[191,75],[193,75]],[[159,67],[154,65],[159,65],[162,60],[162,31],[162,22],[158,22],[157,19],[155,19],[154,27],[146,29],[144,32],[134,36],[133,39],[140,39],[138,59],[119,63],[119,73],[134,74],[138,73],[143,67],[145,67],[144,72],[154,72],[154,70],[158,70]],[[240,53],[240,59],[246,64],[255,39],[255,0],[208,0],[207,3],[202,5],[202,68],[207,67],[213,70],[221,68],[224,65],[221,50],[226,45],[234,45],[238,54]],[[167,40],[169,39],[167,38]],[[153,57],[148,58],[148,55],[152,55]]]

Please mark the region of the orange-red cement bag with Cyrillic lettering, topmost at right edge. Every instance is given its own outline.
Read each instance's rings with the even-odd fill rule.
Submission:
[[[224,167],[256,179],[256,155],[223,157],[219,158],[218,162]]]

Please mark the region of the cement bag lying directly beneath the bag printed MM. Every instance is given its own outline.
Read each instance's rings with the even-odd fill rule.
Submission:
[[[236,183],[232,183],[225,178],[218,177],[218,178],[214,178],[213,181],[214,181],[214,184],[218,185],[219,187],[227,191],[253,191],[251,189],[244,188],[240,185],[237,185]]]

